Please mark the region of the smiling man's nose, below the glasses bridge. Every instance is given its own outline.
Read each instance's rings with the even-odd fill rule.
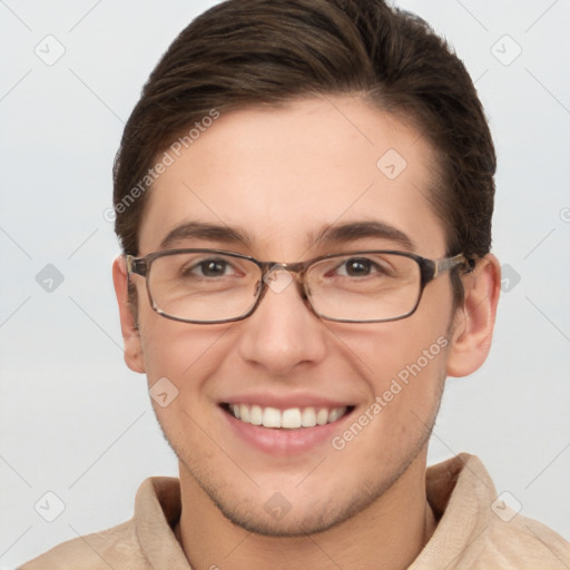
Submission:
[[[292,274],[266,276],[259,306],[242,322],[240,356],[272,376],[321,362],[326,354],[326,327],[299,294]]]

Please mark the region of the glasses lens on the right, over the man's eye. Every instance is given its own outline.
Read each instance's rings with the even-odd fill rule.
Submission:
[[[411,313],[421,292],[419,264],[404,255],[357,253],[322,259],[307,272],[314,311],[336,321],[389,321]]]

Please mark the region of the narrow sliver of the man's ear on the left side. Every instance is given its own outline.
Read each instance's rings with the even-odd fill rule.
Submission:
[[[112,283],[119,304],[120,328],[125,343],[125,362],[134,372],[145,372],[142,345],[128,295],[127,266],[120,256],[112,263]]]

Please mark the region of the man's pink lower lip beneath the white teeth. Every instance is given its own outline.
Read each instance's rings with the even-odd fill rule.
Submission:
[[[335,422],[325,425],[287,430],[253,425],[237,420],[222,407],[220,411],[232,430],[247,444],[264,453],[282,455],[303,453],[323,443],[330,443],[335,435],[342,433],[342,423],[352,415],[352,411],[350,411]]]

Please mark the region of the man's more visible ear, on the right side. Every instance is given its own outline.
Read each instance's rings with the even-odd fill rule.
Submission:
[[[485,361],[493,336],[497,304],[501,291],[501,266],[492,254],[478,261],[474,271],[462,277],[463,307],[453,322],[448,358],[449,376],[466,376]]]

